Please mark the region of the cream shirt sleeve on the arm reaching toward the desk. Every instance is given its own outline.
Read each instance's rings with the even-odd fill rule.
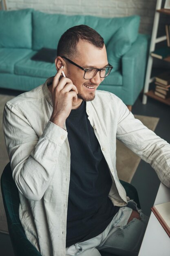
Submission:
[[[170,144],[132,115],[119,99],[117,139],[148,162],[160,181],[170,187]]]

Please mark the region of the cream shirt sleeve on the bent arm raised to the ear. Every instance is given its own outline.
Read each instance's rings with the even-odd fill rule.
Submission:
[[[53,179],[66,130],[49,121],[38,137],[22,111],[9,103],[4,107],[3,129],[18,190],[29,200],[40,200]]]

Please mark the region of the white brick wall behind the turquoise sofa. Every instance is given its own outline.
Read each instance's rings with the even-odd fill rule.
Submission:
[[[140,33],[151,34],[156,0],[6,0],[9,10],[33,8],[47,13],[100,17],[141,16]],[[163,1],[164,4],[164,1]],[[162,16],[161,16],[162,17]],[[170,18],[170,17],[169,17]],[[161,18],[159,35],[165,34],[167,16]]]

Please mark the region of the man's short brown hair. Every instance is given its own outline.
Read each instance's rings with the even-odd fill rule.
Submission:
[[[67,29],[62,34],[58,46],[57,56],[73,57],[77,55],[77,43],[86,40],[97,48],[103,48],[104,39],[97,31],[87,25],[78,25]]]

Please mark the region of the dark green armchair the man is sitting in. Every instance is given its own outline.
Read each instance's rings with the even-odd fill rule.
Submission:
[[[24,229],[22,228],[18,211],[20,204],[18,188],[13,181],[10,163],[5,166],[0,182],[4,209],[7,216],[9,236],[11,238],[15,256],[42,256],[40,252],[38,252],[38,250],[26,238]],[[129,198],[137,202],[137,205],[140,208],[139,198],[135,187],[127,182],[120,182],[124,186]],[[102,256],[114,256],[108,252],[100,253]]]

